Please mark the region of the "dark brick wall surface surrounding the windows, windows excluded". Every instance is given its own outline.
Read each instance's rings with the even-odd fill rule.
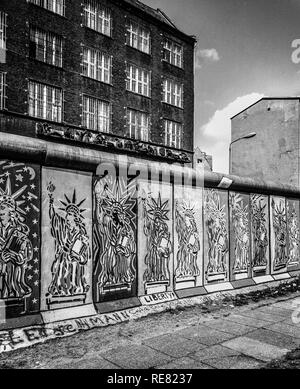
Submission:
[[[7,17],[6,110],[28,115],[28,81],[33,80],[63,90],[62,124],[82,125],[82,95],[111,103],[111,132],[128,136],[126,108],[150,114],[149,139],[164,144],[163,119],[183,124],[182,149],[193,150],[194,127],[194,44],[195,40],[174,28],[162,15],[133,0],[99,0],[112,15],[112,36],[83,26],[81,0],[65,1],[65,16],[26,0],[2,0],[0,10]],[[151,53],[126,45],[126,21],[133,20],[151,32]],[[63,38],[62,68],[29,56],[30,26],[56,33]],[[183,69],[163,61],[163,39],[183,45]],[[112,82],[105,84],[82,76],[82,46],[100,49],[112,56]],[[126,62],[151,71],[151,98],[126,91]],[[162,103],[163,77],[184,85],[183,109]],[[11,131],[1,127],[1,131]],[[22,135],[33,136],[24,131]],[[20,134],[20,131],[18,131]]]

